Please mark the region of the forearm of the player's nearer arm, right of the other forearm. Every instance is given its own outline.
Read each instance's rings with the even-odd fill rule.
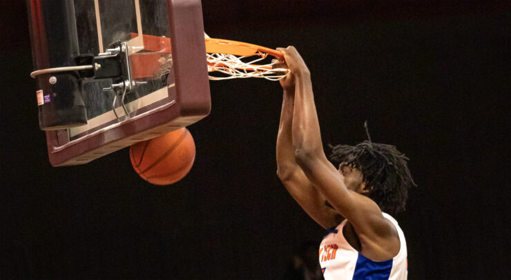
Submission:
[[[293,145],[296,159],[318,156],[323,153],[318,114],[309,72],[296,75],[296,92],[293,111]]]

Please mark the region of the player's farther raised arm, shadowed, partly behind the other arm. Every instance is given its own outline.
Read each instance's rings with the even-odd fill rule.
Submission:
[[[285,67],[285,66],[278,66]],[[295,83],[293,74],[280,80],[284,90],[282,112],[277,137],[277,174],[289,194],[323,228],[331,228],[342,221],[334,209],[325,205],[325,197],[312,186],[295,160],[291,135]]]

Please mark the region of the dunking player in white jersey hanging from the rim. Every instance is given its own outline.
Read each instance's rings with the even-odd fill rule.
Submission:
[[[322,148],[309,70],[292,46],[278,50],[291,74],[280,80],[277,173],[305,212],[329,229],[319,250],[323,276],[407,279],[405,236],[387,214],[404,210],[415,185],[407,157],[369,140],[331,147],[331,160],[340,163],[334,167]]]

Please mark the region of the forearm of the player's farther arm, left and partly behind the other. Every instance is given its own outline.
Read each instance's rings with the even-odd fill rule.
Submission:
[[[297,168],[294,156],[291,128],[293,122],[294,88],[285,88],[282,98],[282,112],[277,135],[277,174],[285,179],[287,174]]]

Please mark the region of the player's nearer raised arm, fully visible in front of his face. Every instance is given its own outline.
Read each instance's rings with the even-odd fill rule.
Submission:
[[[309,70],[295,48],[289,47],[282,53],[296,79],[292,123],[296,162],[307,179],[350,221],[358,233],[373,236],[387,223],[376,203],[363,194],[349,190],[343,174],[328,161],[322,147]]]

